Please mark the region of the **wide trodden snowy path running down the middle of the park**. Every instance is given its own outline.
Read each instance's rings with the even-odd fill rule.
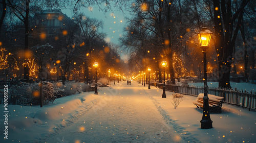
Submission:
[[[185,142],[164,122],[145,87],[112,87],[99,88],[101,101],[45,142]]]

